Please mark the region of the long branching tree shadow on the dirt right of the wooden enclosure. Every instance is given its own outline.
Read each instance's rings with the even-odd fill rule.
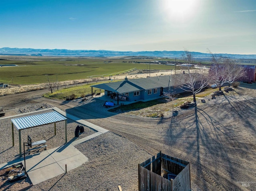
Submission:
[[[197,177],[202,178],[196,180],[200,181],[201,189],[212,189],[210,181],[216,180],[216,177],[223,179],[218,175],[218,171],[232,179],[239,174],[234,166],[234,158],[230,157],[230,153],[236,153],[235,139],[237,135],[231,127],[228,127],[228,124],[214,115],[218,113],[218,106],[213,106],[217,111],[210,110],[210,113],[204,110],[205,107],[208,106],[194,107],[194,111],[190,110],[184,113],[177,122],[169,119],[171,123],[166,133],[168,135],[166,139],[168,145],[185,152],[186,155],[188,154],[188,158],[192,156],[191,159],[196,162],[190,161],[195,166],[194,172]],[[248,149],[244,145],[243,154],[246,154]],[[216,169],[216,172],[212,171],[213,168]],[[222,185],[220,181],[220,184],[215,187],[227,189],[228,185]]]

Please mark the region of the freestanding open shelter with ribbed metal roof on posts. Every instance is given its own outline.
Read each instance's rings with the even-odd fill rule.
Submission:
[[[58,112],[48,112],[38,115],[20,117],[11,119],[12,121],[12,146],[14,146],[14,128],[15,126],[19,131],[19,144],[20,144],[20,157],[21,154],[21,130],[27,128],[33,128],[43,125],[54,123],[54,134],[56,135],[56,122],[65,121],[65,141],[67,142],[67,118],[59,114]]]

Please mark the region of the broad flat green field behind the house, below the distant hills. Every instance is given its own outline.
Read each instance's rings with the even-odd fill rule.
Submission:
[[[2,57],[0,57],[2,58]],[[15,67],[0,67],[0,83],[38,84],[50,81],[67,81],[114,76],[131,69],[149,69],[154,59],[104,59],[84,57],[12,57],[0,59],[0,65],[15,64]],[[158,59],[160,61],[161,59]],[[165,61],[166,59],[162,59]],[[171,59],[169,59],[171,60]],[[150,69],[171,70],[174,66],[150,64]],[[98,75],[98,76],[95,76]]]

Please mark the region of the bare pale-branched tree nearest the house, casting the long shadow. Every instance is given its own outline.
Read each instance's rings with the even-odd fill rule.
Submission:
[[[210,83],[209,73],[206,69],[191,69],[190,65],[194,63],[194,55],[187,49],[184,49],[182,59],[188,66],[184,67],[183,74],[174,76],[174,84],[184,91],[191,92],[196,106],[196,94]]]

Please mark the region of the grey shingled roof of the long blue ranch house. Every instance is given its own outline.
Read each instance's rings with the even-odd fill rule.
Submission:
[[[91,87],[117,93],[129,93],[134,91],[155,89],[160,87],[166,88],[170,86],[174,86],[174,81],[172,79],[172,76],[168,75],[140,79],[128,79],[120,82],[92,85]]]

